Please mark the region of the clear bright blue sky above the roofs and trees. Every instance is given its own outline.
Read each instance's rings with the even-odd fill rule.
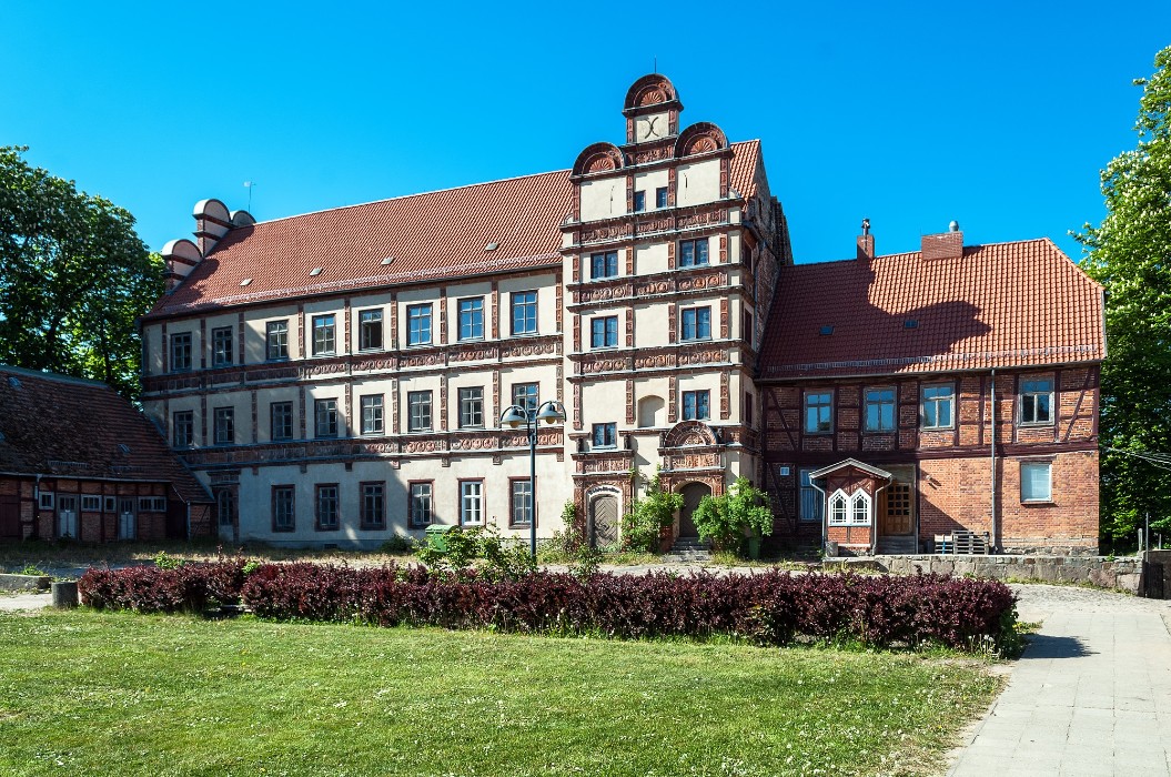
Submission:
[[[852,256],[863,216],[879,253],[957,219],[1076,259],[1171,4],[16,0],[4,27],[0,144],[155,249],[197,200],[245,207],[246,180],[266,220],[569,167],[624,139],[657,57],[684,125],[762,140],[797,261]]]

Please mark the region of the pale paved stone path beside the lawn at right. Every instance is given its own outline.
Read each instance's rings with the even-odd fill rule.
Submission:
[[[1171,775],[1171,601],[1013,587],[1041,630],[947,773]]]

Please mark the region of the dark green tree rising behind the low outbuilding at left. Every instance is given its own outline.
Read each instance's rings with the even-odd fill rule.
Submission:
[[[133,216],[0,147],[0,363],[138,392],[136,318],[163,263]]]

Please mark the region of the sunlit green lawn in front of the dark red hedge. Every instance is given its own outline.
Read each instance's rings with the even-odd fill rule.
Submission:
[[[998,689],[893,653],[0,613],[0,773],[930,773]]]

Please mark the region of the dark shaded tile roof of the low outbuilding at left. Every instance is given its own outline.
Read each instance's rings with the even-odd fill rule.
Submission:
[[[0,473],[170,482],[185,502],[212,501],[155,425],[104,384],[0,365]]]

